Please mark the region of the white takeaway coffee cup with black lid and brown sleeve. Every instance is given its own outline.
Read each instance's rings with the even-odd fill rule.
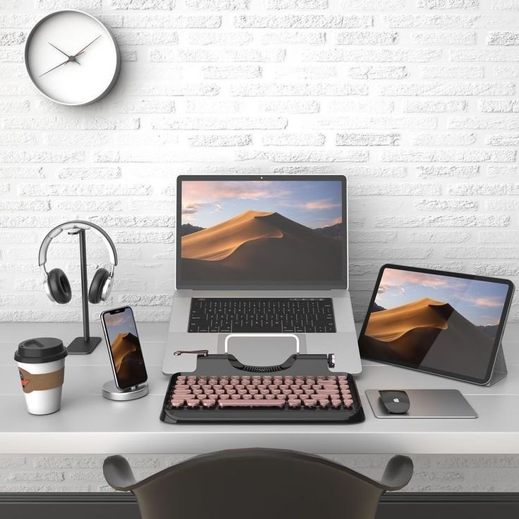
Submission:
[[[67,350],[59,338],[30,338],[18,345],[14,360],[18,362],[27,410],[32,415],[49,415],[59,410],[66,356]]]

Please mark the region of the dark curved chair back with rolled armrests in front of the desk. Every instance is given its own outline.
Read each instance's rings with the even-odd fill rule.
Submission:
[[[126,458],[110,456],[103,473],[116,490],[135,494],[142,519],[374,519],[385,491],[413,475],[393,456],[381,481],[297,451],[244,448],[196,456],[135,481]]]

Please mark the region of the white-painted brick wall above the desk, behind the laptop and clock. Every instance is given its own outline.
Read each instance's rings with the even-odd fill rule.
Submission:
[[[121,45],[92,106],[47,102],[24,71],[31,26],[65,7]],[[49,252],[70,305],[37,268],[46,231],[76,218],[118,246],[109,305],[167,319],[178,173],[346,173],[358,319],[381,262],[517,283],[518,62],[516,0],[0,0],[0,320],[80,318],[73,241]],[[106,261],[91,242],[90,272]],[[37,485],[31,470],[9,477]],[[87,470],[40,479],[83,487]]]

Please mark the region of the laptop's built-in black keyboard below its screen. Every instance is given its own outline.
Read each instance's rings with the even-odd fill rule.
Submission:
[[[191,333],[334,333],[331,298],[192,298]]]

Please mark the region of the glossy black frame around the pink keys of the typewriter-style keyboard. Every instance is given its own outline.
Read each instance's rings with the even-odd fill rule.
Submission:
[[[261,367],[253,371],[252,367],[242,365],[233,355],[198,355],[197,370],[194,372],[175,373],[171,376],[160,419],[169,424],[181,423],[341,423],[355,424],[364,422],[365,415],[353,376],[349,373],[331,372],[328,368],[328,355],[325,354],[295,354],[283,362],[282,365]],[[174,409],[171,407],[171,393],[177,377],[181,375],[345,375],[348,379],[353,406],[351,410],[345,408],[314,408],[314,409]]]

